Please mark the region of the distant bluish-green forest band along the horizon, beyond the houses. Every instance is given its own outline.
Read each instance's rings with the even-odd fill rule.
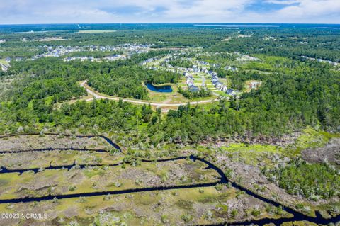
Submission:
[[[100,26],[98,26],[99,28]],[[216,29],[209,26],[176,25],[121,25],[111,26],[112,33],[77,33],[77,27],[65,26],[70,30],[51,31],[49,37],[65,40],[52,42],[32,42],[45,38],[46,33],[14,34],[1,33],[0,57],[31,57],[41,53],[41,46],[58,45],[119,45],[124,43],[152,43],[159,47],[204,47],[208,52],[243,52],[246,54],[266,54],[297,58],[301,55],[340,62],[339,29],[317,29],[307,27],[281,26],[282,28],[239,28]],[[27,28],[6,28],[26,30]],[[2,28],[2,30],[6,30]],[[45,28],[44,28],[45,29]],[[104,30],[110,29],[106,27]],[[28,30],[29,31],[29,30]],[[237,35],[251,35],[239,38]],[[231,38],[230,38],[231,37]],[[28,41],[23,42],[22,38]],[[230,39],[229,39],[230,38]],[[226,40],[227,39],[227,40]],[[199,57],[203,60],[204,57]]]

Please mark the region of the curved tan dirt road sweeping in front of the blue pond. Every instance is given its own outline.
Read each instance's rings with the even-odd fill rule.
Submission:
[[[86,99],[86,101],[93,101],[95,98],[96,99],[109,99],[109,100],[113,100],[113,101],[119,101],[119,99],[122,99],[122,101],[124,102],[130,102],[130,103],[137,103],[137,104],[149,104],[151,106],[156,106],[157,108],[159,107],[174,107],[174,106],[181,106],[181,105],[186,105],[186,103],[154,103],[154,102],[150,102],[150,101],[138,101],[138,100],[133,100],[133,99],[128,99],[128,98],[119,98],[119,97],[113,97],[113,96],[103,96],[101,94],[99,94],[96,91],[92,91],[91,89],[89,89],[89,87],[86,84],[87,81],[82,81],[80,83],[81,87],[84,87],[84,89],[86,89],[87,94],[94,96],[94,98],[89,98]],[[196,105],[196,104],[201,104],[201,103],[212,103],[217,101],[216,99],[213,100],[205,100],[205,101],[193,101],[193,102],[188,102],[191,105]]]

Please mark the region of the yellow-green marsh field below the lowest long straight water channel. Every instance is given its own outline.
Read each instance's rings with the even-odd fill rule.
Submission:
[[[230,206],[230,207],[229,207]],[[232,207],[231,207],[232,206]],[[4,213],[26,213],[27,204],[0,204]],[[131,195],[69,198],[65,200],[30,203],[34,213],[46,213],[51,224],[101,225],[125,223],[127,225],[188,225],[212,222],[234,222],[245,219],[278,217],[266,210],[275,209],[261,201],[239,194],[233,188],[188,188],[173,191],[152,191]],[[261,215],[254,210],[261,210]],[[17,225],[18,220],[6,220],[6,225]],[[31,222],[34,222],[32,220]],[[19,224],[21,225],[21,224]]]

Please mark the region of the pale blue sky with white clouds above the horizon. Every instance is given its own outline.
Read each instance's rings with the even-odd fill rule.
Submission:
[[[340,23],[340,0],[0,0],[27,23]]]

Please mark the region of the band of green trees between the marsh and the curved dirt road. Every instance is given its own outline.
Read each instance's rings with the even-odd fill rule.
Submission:
[[[93,67],[96,64],[90,65]],[[107,71],[102,68],[103,74],[108,73],[109,68],[106,68]],[[45,70],[42,71],[45,72]],[[52,77],[52,74],[50,76]],[[305,67],[297,69],[293,74],[272,76],[254,72],[238,73],[237,76],[242,81],[256,79],[263,83],[260,89],[243,94],[240,99],[232,99],[230,106],[223,101],[209,110],[183,106],[178,111],[169,111],[164,118],[155,118],[154,115],[157,113],[148,110],[149,113],[145,114],[147,116],[140,120],[147,125],[145,131],[142,132],[143,137],[140,137],[140,142],[154,145],[159,142],[200,142],[210,137],[232,137],[234,135],[279,137],[299,130],[305,125],[313,127],[321,125],[325,130],[339,131],[339,72]],[[34,77],[29,79],[34,79]],[[74,112],[61,114],[59,110],[53,110],[50,100],[51,96],[54,98],[53,96],[60,94],[57,89],[52,89],[58,86],[54,84],[46,86],[48,83],[42,79],[43,87],[52,87],[52,91],[46,89],[47,91],[41,92],[42,86],[35,86],[38,81],[27,83],[28,88],[13,86],[13,94],[16,96],[11,97],[11,102],[1,103],[0,106],[1,132],[16,132],[20,126],[27,130],[37,130],[35,128],[37,122],[45,126],[62,125],[66,128],[69,125],[70,128],[77,129],[80,128],[77,124],[79,119],[86,121],[81,126],[84,130],[90,130],[97,125],[97,130],[106,131],[113,118],[121,122],[115,123],[115,130],[136,131],[133,125],[137,122],[133,123],[135,119],[132,118],[140,118],[137,115],[140,115],[141,111],[134,110],[134,106],[124,103],[123,109],[117,108],[117,112],[110,112],[106,110],[105,103],[108,106],[114,105],[111,101],[96,101],[95,103],[81,103],[81,105],[75,103],[63,109],[84,108],[84,111],[74,110]],[[70,89],[68,86],[62,87]],[[18,95],[20,91],[21,94],[27,93],[28,95]],[[133,117],[129,119],[123,116],[125,111]]]

